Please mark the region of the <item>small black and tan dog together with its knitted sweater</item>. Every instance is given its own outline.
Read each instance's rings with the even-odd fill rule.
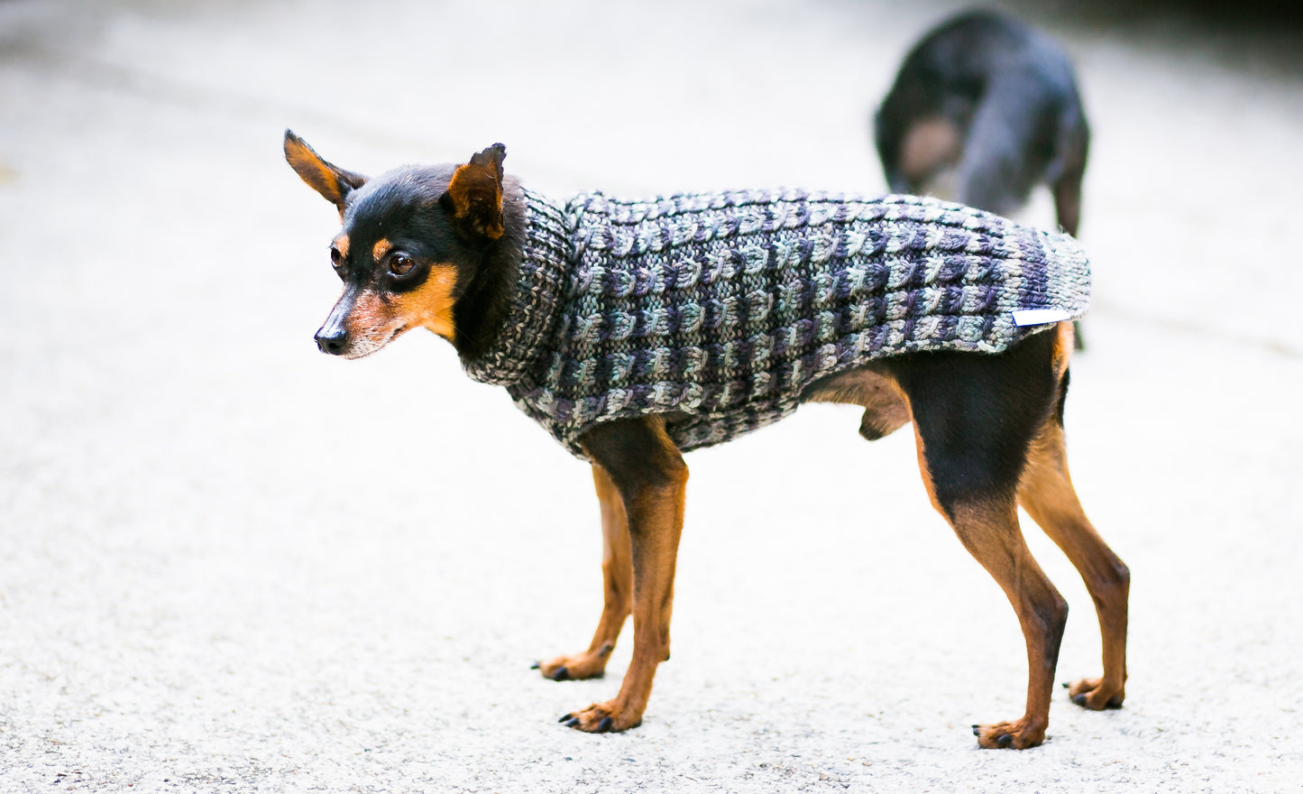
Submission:
[[[555,681],[601,677],[631,614],[633,658],[614,699],[566,725],[642,721],[670,657],[683,452],[803,402],[863,407],[870,441],[912,421],[933,506],[1012,602],[1027,712],[973,726],[980,746],[1044,741],[1067,618],[1018,506],[1072,561],[1098,613],[1104,674],[1072,683],[1070,698],[1122,704],[1130,574],[1085,518],[1065,454],[1067,321],[1088,289],[1070,237],[900,196],[593,193],[558,205],[503,173],[500,143],[377,179],[289,130],[284,149],[343,222],[330,252],[344,291],[319,348],[356,359],[426,327],[592,463],[602,617],[586,651],[537,668]]]

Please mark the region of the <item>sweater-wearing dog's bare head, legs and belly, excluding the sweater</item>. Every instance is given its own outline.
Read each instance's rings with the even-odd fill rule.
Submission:
[[[330,250],[344,292],[317,332],[322,351],[356,359],[410,329],[447,338],[474,360],[504,332],[521,266],[526,197],[504,176],[502,146],[465,164],[400,168],[369,180],[323,160],[293,133],[285,156],[340,213]],[[861,434],[913,422],[934,507],[994,576],[1027,639],[1027,711],[975,726],[982,747],[1032,747],[1045,738],[1067,605],[1028,551],[1023,506],[1080,571],[1104,638],[1104,674],[1070,686],[1091,709],[1122,704],[1128,572],[1091,525],[1068,477],[1063,441],[1070,323],[1002,353],[913,353],[814,382],[805,400],[861,405]],[[539,664],[556,681],[605,671],[633,615],[633,658],[619,694],[567,714],[580,730],[638,725],[657,666],[670,654],[675,557],[688,467],[663,416],[594,425],[580,442],[593,460],[605,554],[605,606],[586,651]]]

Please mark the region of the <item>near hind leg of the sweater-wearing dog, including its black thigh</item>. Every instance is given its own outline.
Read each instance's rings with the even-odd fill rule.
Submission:
[[[1014,606],[1027,645],[1027,709],[973,728],[982,747],[1045,739],[1067,602],[1018,525],[1018,485],[1036,429],[1054,407],[1054,334],[992,356],[919,355],[889,361],[913,417],[919,465],[933,506]]]

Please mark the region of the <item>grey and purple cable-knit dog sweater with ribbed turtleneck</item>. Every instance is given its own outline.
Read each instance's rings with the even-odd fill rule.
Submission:
[[[715,445],[790,415],[823,375],[902,353],[995,353],[1080,317],[1089,296],[1070,236],[930,198],[525,201],[508,317],[463,366],[582,459],[579,438],[598,422],[665,415],[680,450]]]

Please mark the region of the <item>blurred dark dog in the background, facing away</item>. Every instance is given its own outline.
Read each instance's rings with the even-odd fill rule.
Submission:
[[[1076,236],[1089,129],[1058,43],[1009,14],[964,12],[906,56],[874,138],[896,193],[1009,215],[1038,184]]]

